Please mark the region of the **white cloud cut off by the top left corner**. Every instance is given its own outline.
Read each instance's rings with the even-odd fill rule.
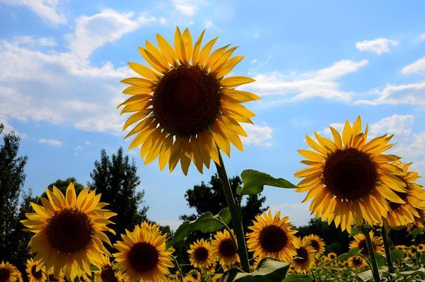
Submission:
[[[50,25],[62,25],[67,22],[65,15],[58,11],[58,0],[1,0],[2,2],[25,6],[36,13],[41,19]]]

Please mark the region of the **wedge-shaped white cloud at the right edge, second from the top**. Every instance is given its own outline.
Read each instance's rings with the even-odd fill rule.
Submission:
[[[358,100],[356,104],[364,105],[414,105],[425,107],[425,81],[410,84],[388,84],[383,89],[374,90],[372,100]]]

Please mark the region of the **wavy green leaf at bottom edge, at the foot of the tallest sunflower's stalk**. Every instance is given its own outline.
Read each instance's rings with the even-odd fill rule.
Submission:
[[[289,264],[270,257],[263,258],[252,273],[240,269],[230,269],[221,276],[221,282],[274,282],[282,281],[289,269]]]

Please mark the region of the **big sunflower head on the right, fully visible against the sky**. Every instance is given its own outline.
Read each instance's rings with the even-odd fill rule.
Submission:
[[[307,144],[315,150],[298,150],[309,168],[295,173],[303,177],[296,192],[308,192],[306,199],[313,199],[311,213],[334,221],[336,227],[351,231],[353,223],[382,224],[386,217],[388,201],[405,203],[395,192],[407,192],[406,184],[397,175],[403,170],[390,162],[398,156],[382,154],[393,147],[388,144],[393,136],[382,135],[367,142],[367,125],[362,132],[360,116],[353,126],[346,121],[342,137],[329,126],[333,141],[315,133],[318,142],[306,136]]]

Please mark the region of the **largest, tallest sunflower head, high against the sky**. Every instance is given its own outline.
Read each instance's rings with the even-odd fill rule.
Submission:
[[[251,123],[254,116],[242,102],[257,100],[253,93],[235,90],[254,81],[245,76],[229,76],[243,57],[230,56],[236,47],[229,45],[211,53],[217,38],[203,47],[204,32],[193,44],[188,29],[181,34],[176,28],[174,48],[161,35],[157,43],[146,41],[140,54],[152,69],[129,62],[142,77],[124,79],[130,86],[123,93],[131,98],[119,105],[123,113],[133,113],[124,130],[138,123],[126,137],[136,135],[129,148],[139,145],[145,164],[159,156],[159,168],[168,163],[170,171],[178,161],[183,173],[188,173],[191,161],[202,173],[210,160],[218,160],[217,146],[230,155],[230,142],[242,150],[239,136],[247,136],[240,122]]]

